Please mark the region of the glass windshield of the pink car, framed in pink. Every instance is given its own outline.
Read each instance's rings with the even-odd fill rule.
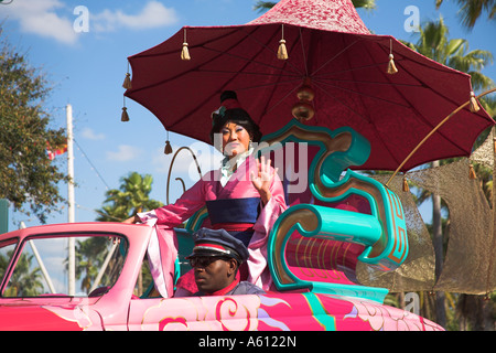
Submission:
[[[74,277],[68,275],[69,238],[74,239]],[[127,253],[127,240],[108,234],[31,237],[21,244],[13,268],[9,269],[14,249],[13,242],[0,248],[0,272],[8,277],[2,297],[94,297],[107,292],[117,281]]]

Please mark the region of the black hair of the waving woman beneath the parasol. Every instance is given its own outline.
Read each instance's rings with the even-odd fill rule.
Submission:
[[[236,99],[237,100],[236,92],[234,92],[234,90],[223,92],[223,94],[220,95],[220,105],[226,99]],[[262,137],[262,133],[260,132],[260,128],[251,119],[249,114],[242,108],[230,108],[230,109],[225,109],[224,111],[213,113],[212,119],[214,122],[212,130],[211,130],[212,143],[214,143],[214,135],[220,132],[222,128],[227,122],[234,122],[239,126],[242,126],[250,135],[251,141],[260,142],[260,139]]]

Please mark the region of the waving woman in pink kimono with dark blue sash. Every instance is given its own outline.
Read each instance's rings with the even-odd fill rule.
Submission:
[[[226,229],[248,247],[247,268],[245,274],[241,271],[241,276],[263,290],[269,290],[272,281],[267,267],[267,240],[273,223],[287,208],[282,183],[277,169],[270,165],[270,160],[262,156],[259,161],[251,156],[252,143],[260,141],[261,132],[248,113],[240,107],[236,93],[224,92],[220,104],[220,108],[212,114],[211,140],[225,156],[222,168],[203,175],[174,204],[139,213],[125,223],[155,220],[162,229],[159,243],[169,242],[168,246],[171,247],[173,227],[206,205],[211,227]],[[160,256],[165,259],[171,254]],[[175,257],[172,261],[174,259]],[[162,267],[164,274],[171,275],[171,259],[158,261],[161,264],[157,267]],[[168,288],[170,287],[169,284]],[[175,296],[196,292],[193,272],[182,276],[176,287]],[[161,295],[164,296],[162,291]]]

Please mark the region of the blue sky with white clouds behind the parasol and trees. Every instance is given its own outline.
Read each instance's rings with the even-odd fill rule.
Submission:
[[[13,0],[0,4],[2,36],[24,53],[33,67],[43,71],[53,85],[53,93],[45,101],[46,109],[52,111],[52,126],[65,127],[65,106],[73,106],[77,222],[95,221],[94,210],[101,207],[107,186],[117,189],[120,178],[131,171],[152,174],[152,197],[165,202],[172,157],[163,154],[166,135],[162,125],[130,99],[127,106],[131,121],[120,121],[127,56],[161,43],[183,25],[249,22],[260,15],[252,10],[254,3],[255,0]],[[434,3],[435,0],[377,0],[375,11],[359,11],[359,14],[376,34],[413,41],[412,33],[405,29],[410,15],[405,11],[413,6],[421,22],[442,15],[451,38],[465,38],[471,49],[492,51],[496,55],[496,21],[489,23],[483,18],[468,32],[460,25],[453,0],[445,0],[439,11]],[[87,9],[89,14],[87,31],[79,31],[84,29],[78,26],[82,9]],[[483,73],[496,81],[494,65]],[[176,133],[170,133],[170,140],[174,149],[192,146],[200,150],[204,172],[218,161],[218,156],[209,157],[209,148],[203,143]],[[171,201],[182,193],[174,178],[183,178],[186,186],[198,179],[194,169],[190,170],[191,157],[180,156],[171,181]],[[64,156],[54,162],[66,170]],[[67,186],[60,188],[65,196]],[[10,215],[10,231],[21,221],[28,226],[39,224],[35,217],[13,210]],[[48,223],[66,221],[64,205],[61,213],[48,217]]]

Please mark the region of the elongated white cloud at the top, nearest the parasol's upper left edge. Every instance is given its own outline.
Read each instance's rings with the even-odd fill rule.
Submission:
[[[121,10],[104,10],[90,17],[96,31],[114,31],[117,28],[153,29],[177,22],[174,9],[165,8],[158,1],[149,1],[138,14],[127,14]]]

